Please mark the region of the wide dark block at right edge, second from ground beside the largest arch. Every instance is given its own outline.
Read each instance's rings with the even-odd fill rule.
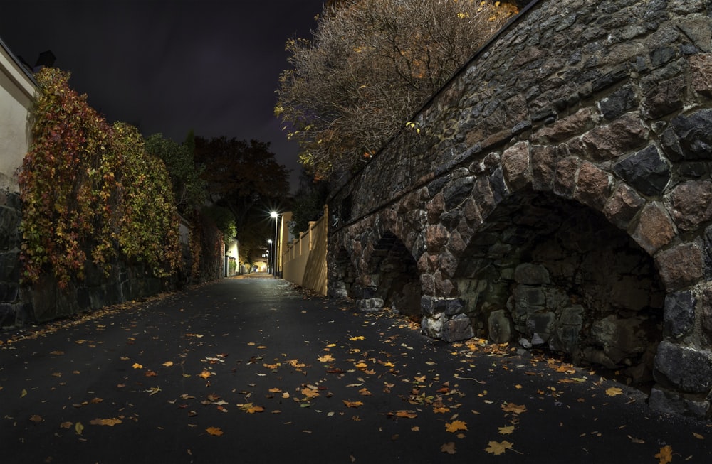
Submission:
[[[666,340],[655,356],[656,382],[681,392],[709,394],[712,389],[712,353],[674,345]]]

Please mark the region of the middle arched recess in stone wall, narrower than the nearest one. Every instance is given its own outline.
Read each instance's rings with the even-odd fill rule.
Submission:
[[[401,239],[384,232],[367,262],[362,279],[362,309],[390,308],[420,320],[422,288],[417,264]]]

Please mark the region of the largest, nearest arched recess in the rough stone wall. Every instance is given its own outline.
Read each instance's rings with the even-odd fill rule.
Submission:
[[[664,287],[649,254],[600,212],[520,190],[474,234],[455,280],[476,335],[651,381]]]

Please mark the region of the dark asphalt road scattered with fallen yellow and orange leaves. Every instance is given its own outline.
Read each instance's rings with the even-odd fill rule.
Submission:
[[[712,422],[636,389],[281,279],[0,340],[0,463],[712,462]]]

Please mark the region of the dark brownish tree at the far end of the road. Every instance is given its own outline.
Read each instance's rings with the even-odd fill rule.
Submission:
[[[195,138],[195,158],[204,168],[209,200],[234,215],[241,254],[273,237],[271,208],[289,194],[289,171],[263,141]],[[224,212],[222,213],[224,215]]]

